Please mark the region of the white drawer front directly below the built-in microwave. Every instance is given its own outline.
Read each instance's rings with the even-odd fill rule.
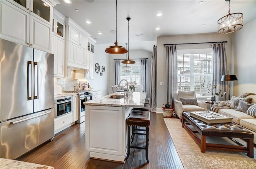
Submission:
[[[60,132],[62,129],[71,126],[73,122],[73,113],[67,113],[54,119],[54,134]]]

